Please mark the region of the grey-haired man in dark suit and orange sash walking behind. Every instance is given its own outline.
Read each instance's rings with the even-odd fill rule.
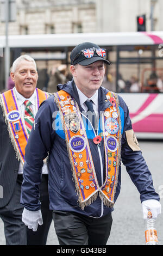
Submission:
[[[0,217],[4,222],[6,245],[45,245],[52,222],[46,164],[40,168],[43,225],[37,231],[33,229],[36,232],[27,229],[22,222],[23,207],[20,204],[20,195],[26,144],[35,114],[48,94],[36,88],[36,63],[28,55],[22,55],[15,60],[10,76],[15,87],[0,95],[0,185],[3,187]],[[26,215],[28,216],[28,211]],[[41,224],[42,220],[39,223]]]

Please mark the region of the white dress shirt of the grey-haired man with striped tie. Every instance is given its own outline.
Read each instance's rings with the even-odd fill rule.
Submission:
[[[21,111],[21,116],[24,117],[24,113],[25,113],[25,108],[26,106],[24,105],[24,101],[25,100],[29,100],[31,102],[30,107],[32,108],[34,117],[37,113],[37,108],[36,108],[36,91],[34,91],[34,93],[32,94],[32,96],[29,97],[29,99],[23,97],[20,93],[17,92],[16,88],[14,87],[14,92],[17,98],[17,103],[18,103],[18,108]],[[18,174],[23,174],[23,165],[20,162],[19,168],[18,168]],[[42,167],[42,174],[48,174],[48,169],[47,169],[47,165],[44,163],[43,167]]]

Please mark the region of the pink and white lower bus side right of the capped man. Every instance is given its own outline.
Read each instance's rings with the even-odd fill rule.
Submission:
[[[163,94],[124,93],[137,138],[163,138]]]

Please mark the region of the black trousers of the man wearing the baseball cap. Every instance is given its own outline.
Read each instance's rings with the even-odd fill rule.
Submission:
[[[106,245],[112,216],[87,217],[72,212],[53,211],[55,232],[59,245]]]

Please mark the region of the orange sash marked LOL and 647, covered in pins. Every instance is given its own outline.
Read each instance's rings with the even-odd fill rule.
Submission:
[[[101,115],[106,178],[102,186],[99,186],[79,106],[73,97],[64,90],[54,94],[66,135],[68,156],[81,209],[96,200],[98,192],[106,206],[114,205],[118,166],[121,158],[121,118],[117,95],[109,92],[106,97],[111,100],[112,105],[106,108]],[[96,138],[99,137],[95,136],[93,139],[95,147],[98,147]]]

